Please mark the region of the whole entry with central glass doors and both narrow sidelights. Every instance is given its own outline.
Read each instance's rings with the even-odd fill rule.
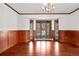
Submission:
[[[35,27],[35,30],[34,30],[34,27]],[[58,19],[54,21],[36,20],[35,23],[34,23],[34,20],[30,20],[30,40],[58,41],[59,40]]]

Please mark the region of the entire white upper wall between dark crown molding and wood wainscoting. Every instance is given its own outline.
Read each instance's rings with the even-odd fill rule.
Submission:
[[[59,19],[59,30],[79,30],[79,10],[68,15],[18,15],[5,4],[0,4],[0,30],[29,30],[31,19]]]

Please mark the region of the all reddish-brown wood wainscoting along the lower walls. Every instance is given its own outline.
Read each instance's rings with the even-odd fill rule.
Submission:
[[[36,31],[34,31],[35,37]],[[54,38],[54,31],[51,32],[51,38]],[[30,30],[0,31],[0,53],[17,43],[28,41],[30,41]],[[79,31],[59,30],[59,42],[70,43],[79,47]]]

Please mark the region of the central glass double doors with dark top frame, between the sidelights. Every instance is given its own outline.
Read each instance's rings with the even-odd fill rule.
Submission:
[[[36,21],[36,38],[40,40],[50,39],[51,21]]]

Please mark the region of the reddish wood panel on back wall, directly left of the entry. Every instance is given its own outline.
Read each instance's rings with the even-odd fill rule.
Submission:
[[[17,32],[18,32],[18,42],[30,41],[30,30],[19,30]]]

